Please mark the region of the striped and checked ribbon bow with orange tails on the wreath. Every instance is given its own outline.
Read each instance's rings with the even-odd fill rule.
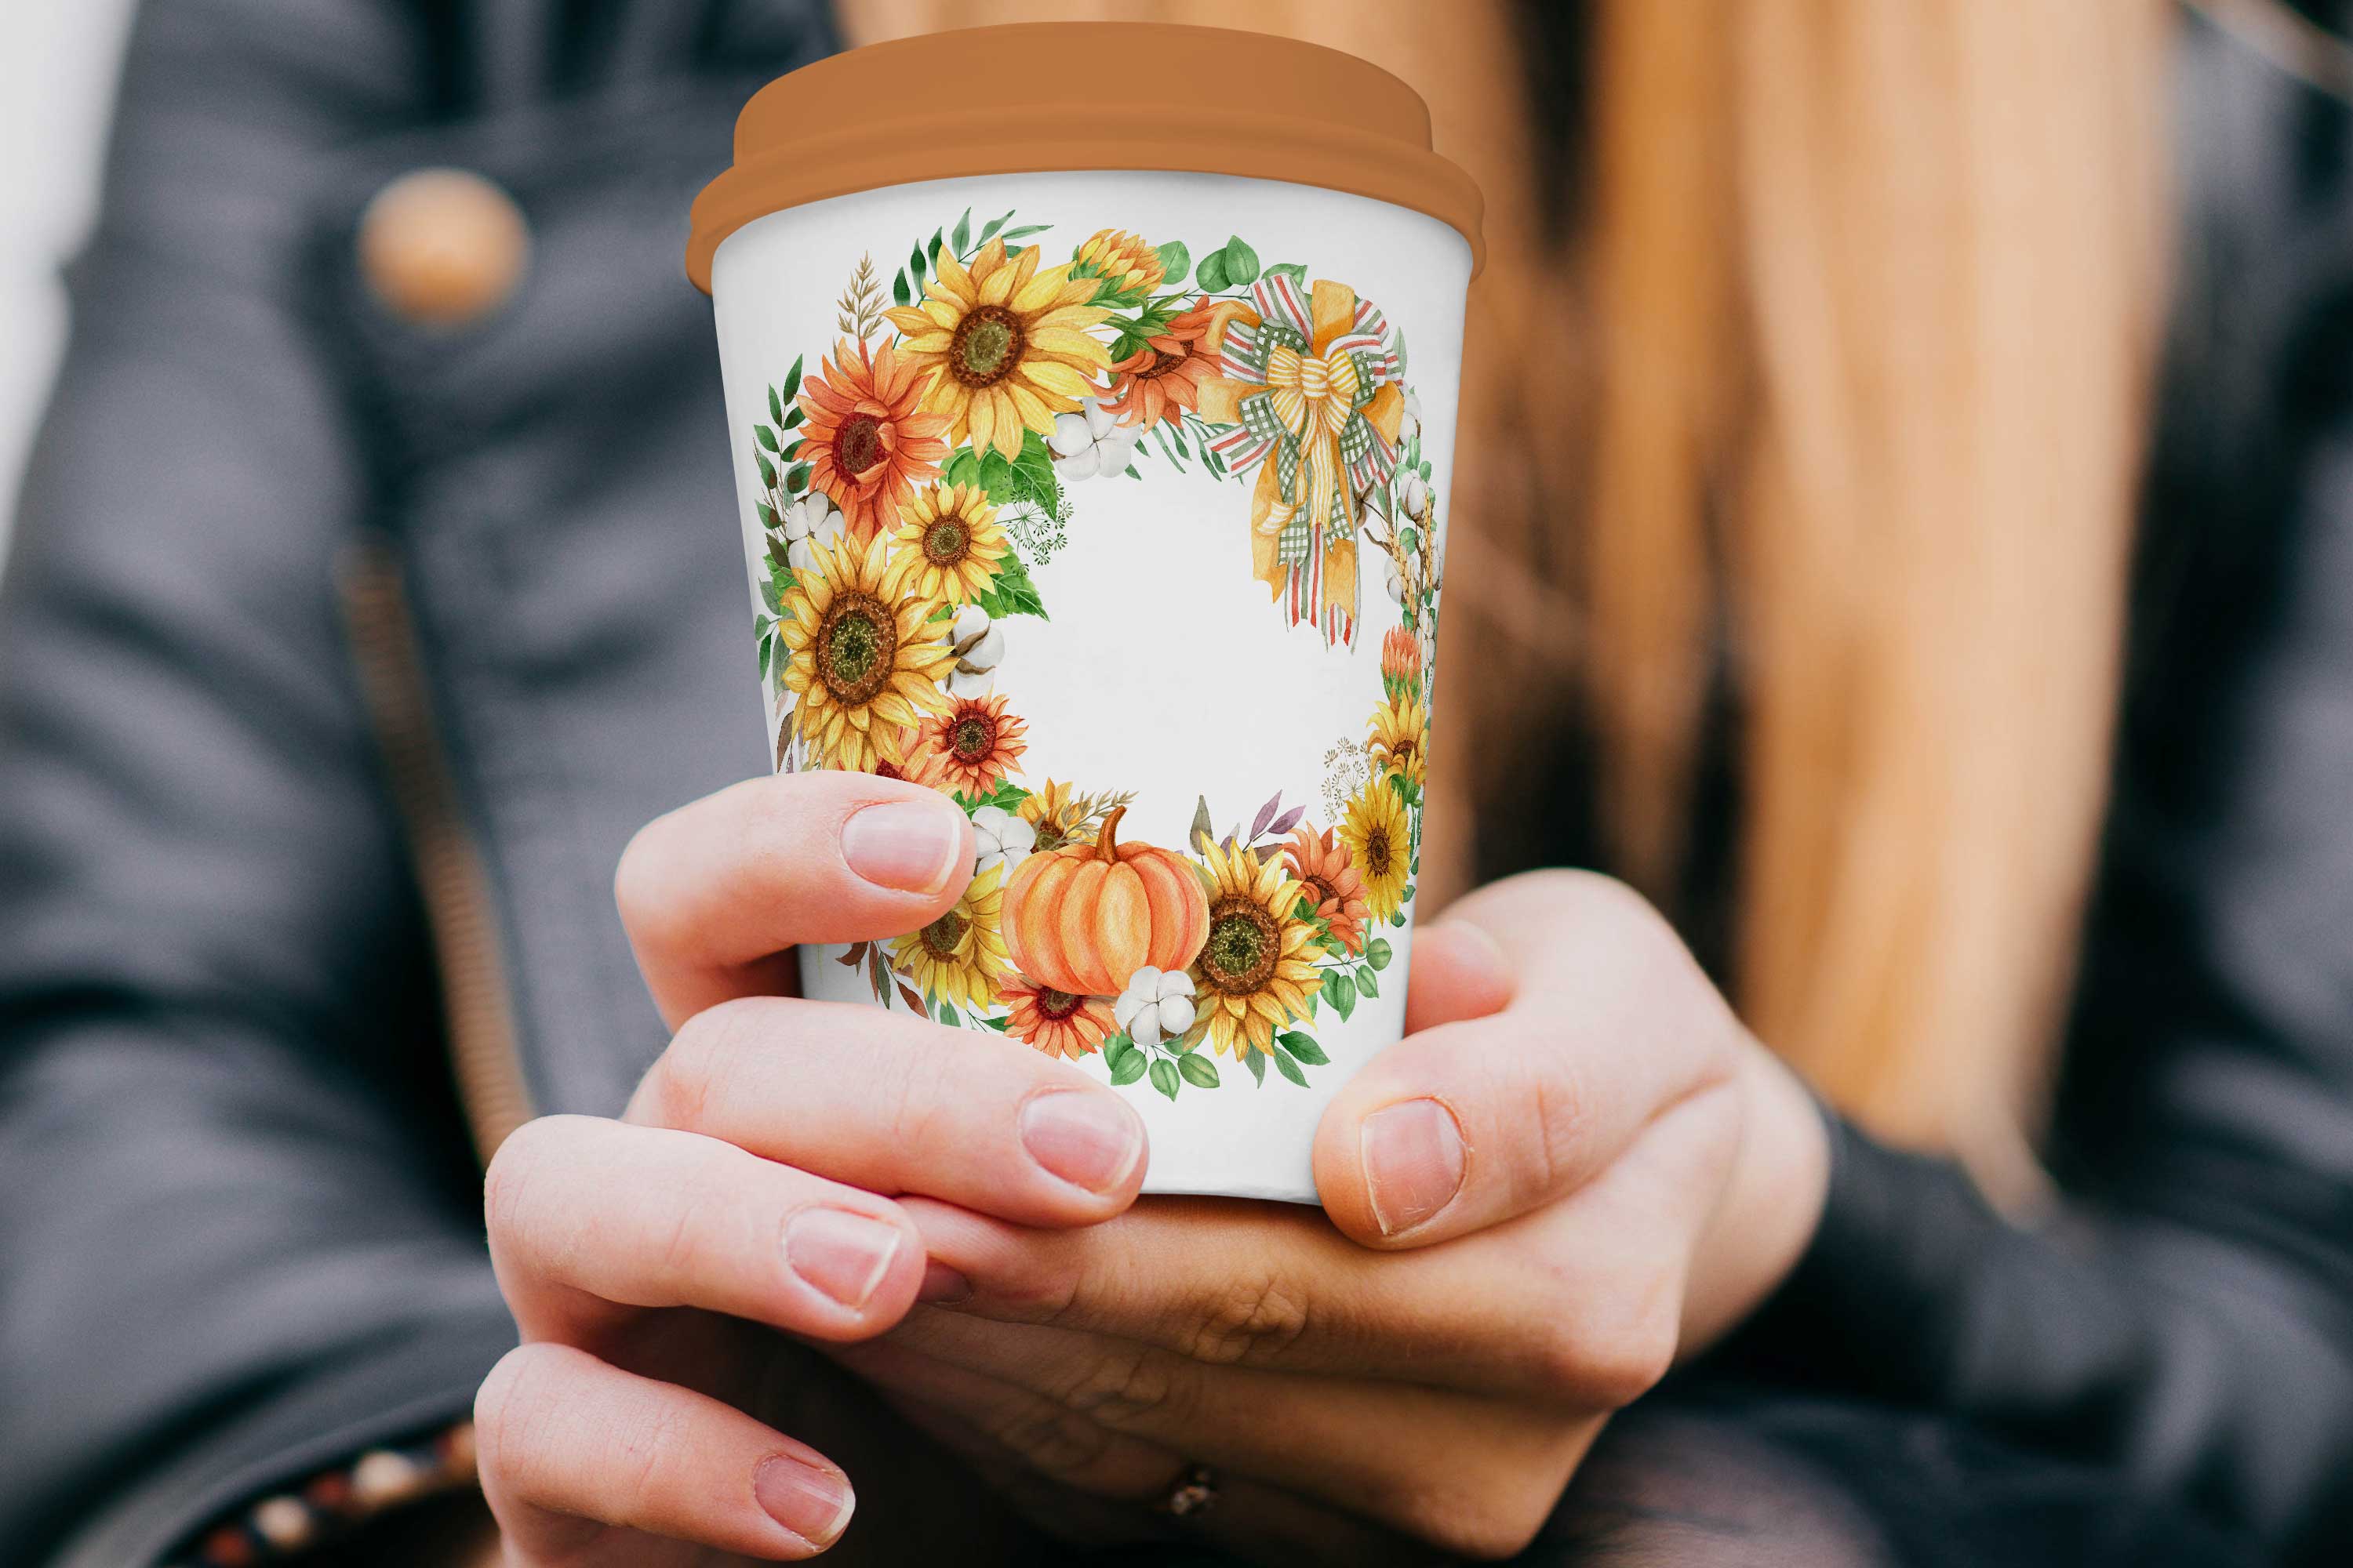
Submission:
[[[1381,313],[1337,282],[1301,296],[1289,275],[1261,277],[1249,308],[1212,343],[1219,378],[1200,414],[1226,425],[1209,440],[1235,473],[1259,468],[1252,501],[1257,576],[1292,625],[1315,621],[1327,642],[1355,639],[1358,496],[1398,465],[1402,360]]]

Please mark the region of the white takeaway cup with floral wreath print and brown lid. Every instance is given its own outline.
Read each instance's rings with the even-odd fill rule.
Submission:
[[[767,757],[974,825],[802,985],[1120,1086],[1146,1192],[1315,1201],[1402,1032],[1478,212],[1388,73],[1144,24],[807,66],[694,202]]]

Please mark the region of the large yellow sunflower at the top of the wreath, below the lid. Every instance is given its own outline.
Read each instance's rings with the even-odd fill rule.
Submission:
[[[974,449],[1021,454],[1021,430],[1054,433],[1056,414],[1099,390],[1111,350],[1087,329],[1111,315],[1089,306],[1094,277],[1071,277],[1071,266],[1038,270],[1038,247],[1005,254],[991,240],[967,270],[948,252],[925,284],[920,306],[887,310],[899,357],[927,374],[927,414],[948,416],[948,444],[972,437]]]

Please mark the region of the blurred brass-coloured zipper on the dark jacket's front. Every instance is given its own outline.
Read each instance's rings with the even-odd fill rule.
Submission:
[[[433,729],[400,559],[358,545],[341,569],[344,623],[424,893],[459,1105],[482,1164],[534,1117],[489,872],[456,806]]]

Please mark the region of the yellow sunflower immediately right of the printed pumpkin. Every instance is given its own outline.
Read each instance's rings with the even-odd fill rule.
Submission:
[[[1280,856],[1202,844],[1209,940],[1193,959],[1193,1004],[1209,1025],[1209,1048],[1242,1060],[1266,1051],[1275,1030],[1308,1016],[1315,987],[1315,926],[1299,919],[1304,889]]]

